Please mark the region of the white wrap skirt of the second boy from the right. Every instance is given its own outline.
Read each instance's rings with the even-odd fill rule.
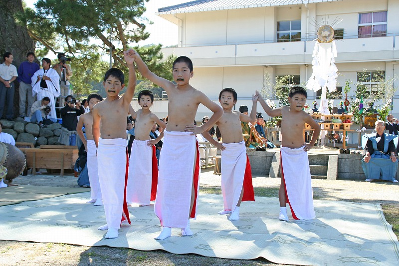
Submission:
[[[234,211],[241,196],[246,167],[245,142],[223,143],[221,151],[221,191],[224,210]]]

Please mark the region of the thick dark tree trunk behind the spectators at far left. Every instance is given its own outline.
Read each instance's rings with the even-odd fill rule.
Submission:
[[[17,68],[26,60],[27,52],[34,52],[34,42],[30,38],[26,25],[17,25],[14,19],[16,12],[22,12],[22,0],[0,0],[0,62],[4,52],[12,53],[12,62]],[[14,82],[14,117],[19,115],[19,83]],[[1,114],[2,115],[2,114]]]

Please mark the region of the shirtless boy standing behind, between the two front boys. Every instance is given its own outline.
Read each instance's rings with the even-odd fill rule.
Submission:
[[[146,206],[150,205],[150,201],[154,201],[157,195],[158,160],[154,145],[164,136],[161,133],[158,138],[152,140],[150,132],[155,123],[159,123],[162,128],[166,128],[166,124],[150,111],[154,103],[154,94],[151,91],[140,91],[138,101],[141,109],[130,112],[136,120],[135,139],[129,160],[126,201],[128,204],[138,203],[140,206]]]

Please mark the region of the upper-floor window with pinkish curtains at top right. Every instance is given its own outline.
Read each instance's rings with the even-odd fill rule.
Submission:
[[[387,11],[359,13],[359,38],[387,36]]]

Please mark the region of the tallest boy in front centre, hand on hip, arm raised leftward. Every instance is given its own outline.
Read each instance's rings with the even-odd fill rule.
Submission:
[[[182,236],[191,236],[190,218],[196,217],[199,189],[200,156],[196,135],[208,130],[223,114],[216,103],[189,83],[193,77],[193,62],[187,56],[178,57],[173,63],[171,81],[151,72],[136,53],[140,73],[168,93],[168,126],[159,162],[159,175],[155,214],[163,226],[155,239],[171,236],[171,228],[181,228]],[[194,126],[198,106],[203,104],[213,112],[208,123]],[[164,155],[165,154],[165,155]]]

